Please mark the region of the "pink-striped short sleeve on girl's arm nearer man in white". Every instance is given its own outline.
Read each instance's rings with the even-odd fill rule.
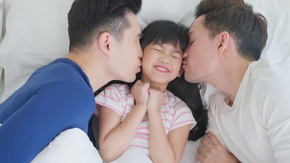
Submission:
[[[191,110],[188,108],[188,106],[184,103],[181,102],[179,105],[174,107],[175,114],[173,117],[173,120],[171,122],[171,127],[169,132],[172,130],[185,126],[188,124],[191,124],[190,130],[193,129],[196,125],[196,121],[192,115]]]

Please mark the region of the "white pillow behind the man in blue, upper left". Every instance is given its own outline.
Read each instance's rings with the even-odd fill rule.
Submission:
[[[69,51],[67,13],[73,0],[6,0],[6,33],[0,45],[0,103],[38,68]]]

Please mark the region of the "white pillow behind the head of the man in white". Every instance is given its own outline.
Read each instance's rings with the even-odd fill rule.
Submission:
[[[281,63],[290,59],[290,1],[245,0],[253,5],[268,21],[268,40],[262,55],[271,62]]]

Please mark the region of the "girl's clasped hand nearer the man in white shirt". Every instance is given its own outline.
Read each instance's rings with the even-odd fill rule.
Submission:
[[[147,112],[148,113],[151,111],[159,112],[162,104],[164,103],[164,98],[165,98],[164,93],[153,88],[149,88],[148,92],[149,92],[149,99],[147,103]]]

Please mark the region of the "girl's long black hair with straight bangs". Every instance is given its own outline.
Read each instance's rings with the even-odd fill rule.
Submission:
[[[176,24],[172,21],[161,20],[150,23],[142,31],[140,44],[142,50],[149,44],[161,42],[161,44],[172,44],[174,47],[180,46],[182,52],[188,45],[188,27]],[[134,82],[128,83],[124,81],[110,81],[96,92],[96,96],[111,84],[127,84],[130,88],[137,80],[141,79],[141,72],[136,75]],[[192,111],[197,125],[189,132],[188,140],[196,141],[205,134],[207,128],[207,111],[203,107],[200,94],[201,84],[189,83],[184,79],[184,73],[181,77],[176,77],[169,82],[167,89],[175,96],[180,98]]]

